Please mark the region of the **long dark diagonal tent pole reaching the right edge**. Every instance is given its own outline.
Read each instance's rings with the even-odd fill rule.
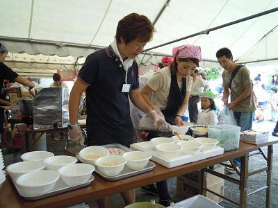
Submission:
[[[195,36],[197,36],[197,35],[203,35],[203,34],[208,35],[208,33],[210,33],[211,31],[216,31],[216,30],[218,30],[218,29],[220,29],[220,28],[224,28],[224,27],[227,27],[227,26],[231,26],[231,25],[233,25],[233,24],[238,24],[238,23],[240,23],[240,22],[242,22],[242,21],[247,21],[247,20],[250,20],[250,19],[254,19],[254,18],[256,18],[256,17],[261,17],[261,16],[263,16],[263,15],[268,15],[268,14],[270,14],[270,13],[272,13],[272,12],[277,12],[277,10],[278,10],[278,7],[272,8],[271,10],[266,10],[266,11],[264,11],[264,12],[257,13],[257,14],[255,14],[255,15],[251,15],[251,16],[248,16],[248,17],[244,17],[244,18],[238,19],[238,20],[236,20],[236,21],[230,21],[230,22],[227,23],[227,24],[222,24],[222,25],[216,26],[216,27],[214,27],[214,28],[208,28],[208,29],[206,29],[206,30],[204,30],[204,31],[200,31],[199,33],[194,33],[194,34],[188,35],[188,36],[186,36],[186,37],[181,37],[181,38],[179,38],[179,39],[177,39],[177,40],[172,40],[172,41],[170,41],[170,42],[166,42],[165,44],[160,44],[160,45],[158,45],[158,46],[154,46],[154,47],[152,47],[152,48],[145,49],[143,52],[145,52],[145,51],[150,51],[150,50],[152,50],[152,49],[157,49],[157,48],[160,48],[160,47],[162,47],[162,46],[165,46],[165,45],[168,45],[168,44],[172,44],[172,43],[174,43],[174,42],[179,42],[179,41],[181,41],[181,40],[186,40],[186,39],[188,39],[188,38],[190,38],[190,37],[195,37]]]

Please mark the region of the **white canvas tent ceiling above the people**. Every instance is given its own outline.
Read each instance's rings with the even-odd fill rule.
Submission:
[[[14,69],[80,68],[84,57],[111,43],[122,17],[138,12],[154,21],[165,2],[0,0],[0,41],[11,52],[7,64]],[[156,33],[145,49],[277,7],[277,0],[172,0],[156,21]],[[277,25],[278,12],[272,12],[149,53],[171,55],[174,46],[196,44],[202,47],[205,60],[215,61],[215,52],[224,46],[231,49],[234,60],[239,62],[275,59]],[[138,60],[141,59],[142,56]],[[159,59],[153,55],[143,62],[156,63]]]

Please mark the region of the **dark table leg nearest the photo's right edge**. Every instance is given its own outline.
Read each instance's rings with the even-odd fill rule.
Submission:
[[[271,186],[271,175],[272,175],[272,157],[273,157],[273,145],[268,146],[268,171],[266,171],[266,198],[265,198],[265,207],[270,207],[270,186]]]

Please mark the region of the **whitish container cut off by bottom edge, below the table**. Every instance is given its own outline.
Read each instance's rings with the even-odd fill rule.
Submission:
[[[222,206],[218,205],[218,203],[213,202],[212,200],[210,200],[200,194],[190,197],[181,202],[177,202],[174,205],[180,205],[183,208],[196,208],[196,207],[223,208]],[[167,208],[171,208],[171,206],[167,207]]]

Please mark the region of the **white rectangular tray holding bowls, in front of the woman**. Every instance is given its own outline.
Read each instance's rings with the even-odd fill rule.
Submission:
[[[152,141],[144,141],[131,144],[131,149],[150,153],[152,155],[152,161],[157,162],[158,164],[161,164],[166,168],[181,166],[183,164],[196,162],[201,159],[206,159],[208,157],[213,157],[216,155],[222,155],[224,153],[223,148],[221,148],[220,146],[216,146],[213,149],[201,151],[196,155],[179,155],[178,157],[166,158],[158,153],[158,151],[154,148]]]

